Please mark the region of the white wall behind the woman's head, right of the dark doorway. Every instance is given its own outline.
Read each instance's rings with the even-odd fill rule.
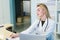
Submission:
[[[39,3],[44,3],[45,5],[47,5],[49,13],[51,15],[51,17],[55,20],[56,19],[56,2],[55,0],[31,0],[31,23],[34,23],[34,21],[37,19],[37,15],[36,15],[36,6]],[[56,20],[55,20],[56,21]]]

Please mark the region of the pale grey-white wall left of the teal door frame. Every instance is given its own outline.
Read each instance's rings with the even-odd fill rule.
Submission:
[[[10,23],[11,21],[9,0],[0,0],[0,25]]]

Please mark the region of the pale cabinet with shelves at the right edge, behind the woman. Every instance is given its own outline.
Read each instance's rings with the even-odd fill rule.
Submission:
[[[57,24],[56,24],[56,32],[60,34],[60,0],[57,0]]]

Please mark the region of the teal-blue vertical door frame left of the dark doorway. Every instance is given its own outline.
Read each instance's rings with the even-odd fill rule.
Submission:
[[[16,27],[15,0],[10,0],[10,19],[11,19],[11,24],[13,24],[14,27]]]

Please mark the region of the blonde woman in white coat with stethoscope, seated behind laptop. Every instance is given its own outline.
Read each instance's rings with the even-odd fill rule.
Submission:
[[[49,15],[48,8],[45,4],[37,5],[38,19],[25,31],[24,34],[40,34],[46,36],[46,40],[54,40],[53,33],[55,23]],[[11,37],[17,37],[18,34],[13,34]]]

